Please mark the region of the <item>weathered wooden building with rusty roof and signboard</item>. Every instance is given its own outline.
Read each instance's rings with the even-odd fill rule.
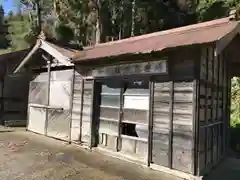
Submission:
[[[230,80],[240,67],[236,14],[86,47],[66,61],[55,56],[65,63],[48,61],[36,76],[45,80],[31,82],[46,96],[30,94],[28,129],[202,177],[229,147]]]

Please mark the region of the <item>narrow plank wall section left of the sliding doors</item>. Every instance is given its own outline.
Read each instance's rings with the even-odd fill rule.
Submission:
[[[78,71],[74,73],[71,141],[90,146],[93,81],[84,80]]]

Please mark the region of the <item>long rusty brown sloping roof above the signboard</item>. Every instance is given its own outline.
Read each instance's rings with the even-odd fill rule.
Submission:
[[[166,31],[131,37],[86,47],[72,56],[73,62],[114,57],[124,54],[146,54],[167,48],[212,43],[232,32],[239,21],[229,17]]]

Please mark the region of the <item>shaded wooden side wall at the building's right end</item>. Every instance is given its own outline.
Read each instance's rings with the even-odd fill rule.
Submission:
[[[228,64],[224,54],[214,55],[214,47],[203,47],[199,84],[199,145],[198,174],[203,175],[224,156]]]

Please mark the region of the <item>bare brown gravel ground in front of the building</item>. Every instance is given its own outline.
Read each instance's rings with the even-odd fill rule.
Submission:
[[[0,131],[1,180],[180,180],[25,131]]]

